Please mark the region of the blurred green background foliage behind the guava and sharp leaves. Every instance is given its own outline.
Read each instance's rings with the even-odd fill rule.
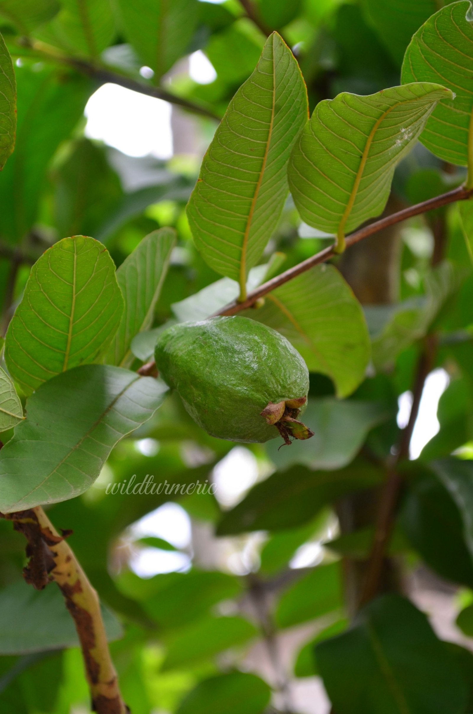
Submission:
[[[174,226],[154,331],[133,346],[134,368],[146,361],[156,330],[195,310],[195,300],[182,301],[219,279],[194,248],[184,207],[216,119],[254,69],[267,31],[294,50],[312,111],[340,91],[399,84],[410,38],[436,10],[436,0],[0,0],[18,84],[16,149],[0,176],[4,327],[31,263],[60,238],[93,236],[118,267],[147,233]],[[463,180],[463,169],[417,144],[397,169],[389,211]],[[407,711],[388,708],[369,632],[401,698],[431,692],[429,714],[473,711],[465,705],[473,690],[471,509],[448,488],[444,461],[430,465],[454,453],[469,468],[473,458],[467,230],[456,206],[442,208],[334,261],[364,305],[373,360],[344,400],[328,378],[311,375],[305,421],[316,436],[307,443],[279,451],[277,442],[218,441],[174,395],[119,443],[84,496],[48,509],[58,528],[74,531],[69,543],[104,603],[133,714],[324,714],[328,697],[338,714],[357,714],[367,711],[370,687],[369,712]],[[274,274],[326,245],[289,198],[262,264]],[[442,261],[432,268],[435,251]],[[215,291],[200,300],[206,295],[213,304]],[[384,588],[394,594],[347,629],[382,464],[409,416],[414,365],[433,330],[439,350],[386,563]],[[213,483],[216,492],[106,493],[149,474],[180,487]],[[59,592],[23,582],[24,543],[6,521],[0,538],[2,714],[89,711]]]

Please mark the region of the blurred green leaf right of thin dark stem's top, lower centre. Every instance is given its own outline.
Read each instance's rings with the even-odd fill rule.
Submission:
[[[327,615],[342,605],[341,564],[318,565],[282,594],[276,622],[281,628],[293,627]]]

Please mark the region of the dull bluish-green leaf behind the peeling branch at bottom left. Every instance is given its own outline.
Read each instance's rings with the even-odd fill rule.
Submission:
[[[102,617],[109,641],[118,640],[123,630],[106,608]],[[24,580],[0,590],[0,654],[25,655],[44,650],[79,646],[74,620],[54,583],[34,590]]]

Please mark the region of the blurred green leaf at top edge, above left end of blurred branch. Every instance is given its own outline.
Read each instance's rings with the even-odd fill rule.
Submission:
[[[62,0],[59,13],[36,34],[71,54],[98,57],[114,39],[110,0]]]

